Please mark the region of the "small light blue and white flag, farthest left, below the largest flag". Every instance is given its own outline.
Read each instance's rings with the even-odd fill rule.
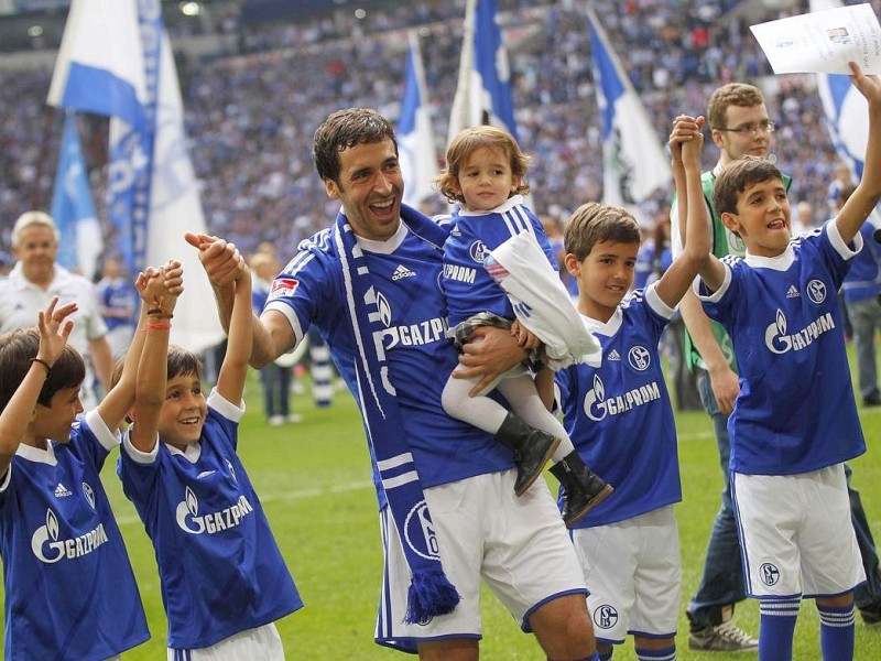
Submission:
[[[64,118],[58,170],[52,194],[52,217],[58,227],[58,263],[68,269],[77,268],[91,280],[98,257],[104,251],[104,237],[95,213],[73,110],[68,110]]]

